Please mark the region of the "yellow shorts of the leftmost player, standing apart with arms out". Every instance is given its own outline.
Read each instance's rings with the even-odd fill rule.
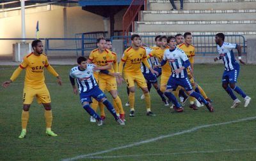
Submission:
[[[51,97],[46,85],[42,88],[25,86],[23,89],[23,104],[31,104],[34,97],[36,97],[38,104],[51,103]]]

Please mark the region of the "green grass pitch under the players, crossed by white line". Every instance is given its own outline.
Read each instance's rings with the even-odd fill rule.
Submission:
[[[223,65],[195,65],[195,78],[214,101],[214,113],[202,107],[197,111],[185,106],[184,113],[172,113],[152,89],[152,111],[155,117],[146,116],[145,102],[140,100],[141,90],[136,88],[136,116],[129,118],[124,104],[128,97],[125,85],[118,88],[126,116],[126,125],[118,125],[108,111],[102,127],[89,122],[90,116],[72,93],[68,73],[72,66],[54,66],[63,79],[63,86],[45,71],[45,81],[52,99],[52,130],[58,137],[45,136],[44,108],[34,99],[29,112],[28,132],[20,134],[22,89],[24,71],[8,88],[0,90],[0,160],[61,160],[119,146],[137,143],[159,136],[173,134],[193,127],[212,123],[230,122],[256,116],[256,66],[241,66],[237,85],[252,97],[248,108],[243,104],[230,109],[232,100],[221,87]],[[0,82],[8,80],[16,67],[1,66]],[[240,95],[236,94],[242,101]],[[109,94],[108,99],[112,102]],[[81,160],[255,160],[256,120],[217,125],[186,134],[166,137],[150,143],[95,155],[101,158]],[[109,157],[109,158],[108,158]]]

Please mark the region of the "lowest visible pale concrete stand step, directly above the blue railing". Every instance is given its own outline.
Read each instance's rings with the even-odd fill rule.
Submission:
[[[138,32],[161,31],[253,31],[256,20],[136,22]]]

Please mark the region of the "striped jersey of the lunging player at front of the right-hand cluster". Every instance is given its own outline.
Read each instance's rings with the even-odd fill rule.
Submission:
[[[163,60],[167,60],[172,67],[172,71],[175,69],[179,69],[180,67],[184,66],[184,62],[188,60],[186,53],[180,48],[175,47],[175,49],[170,50],[167,49],[164,51],[164,58]],[[175,78],[186,78],[188,77],[188,73],[186,68],[183,69],[179,74],[175,74],[172,72],[172,77]]]

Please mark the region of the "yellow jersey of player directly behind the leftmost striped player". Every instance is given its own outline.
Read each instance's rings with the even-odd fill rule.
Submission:
[[[102,53],[99,52],[99,49],[95,49],[90,53],[89,60],[91,60],[97,66],[107,66],[108,62],[113,62],[113,54],[108,49],[105,49]],[[111,66],[111,69],[108,71],[115,73],[113,66]],[[110,75],[99,73],[99,76],[109,77]]]

